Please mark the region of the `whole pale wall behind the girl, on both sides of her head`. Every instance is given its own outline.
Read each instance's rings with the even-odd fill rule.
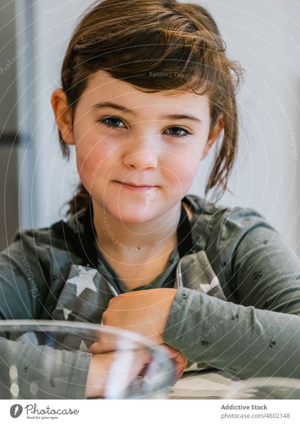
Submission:
[[[17,7],[21,7],[22,1]],[[48,87],[27,118],[34,122],[34,226],[47,226],[61,219],[61,202],[74,193],[77,171],[74,160],[71,166],[66,166],[58,149],[50,96],[53,89],[59,87],[60,65],[70,33],[80,12],[91,3],[90,0],[42,0],[32,6],[34,97]],[[300,1],[210,0],[199,3],[212,12],[230,56],[241,61],[246,70],[245,86],[238,97],[240,153],[229,185],[234,195],[224,199],[222,204],[259,210],[288,237],[290,246],[296,248],[300,235],[297,217],[300,214],[300,26],[297,23]],[[60,6],[59,10],[49,13],[55,6]],[[278,97],[280,103],[276,101]],[[31,100],[28,98],[27,104]],[[291,136],[295,137],[294,146]],[[55,154],[57,162],[51,165],[53,158],[56,160]],[[199,169],[197,194],[203,194],[206,167],[212,154]],[[51,166],[49,179],[47,174]],[[60,190],[62,184],[63,191]],[[30,197],[29,187],[24,189]],[[50,196],[48,208],[46,195]],[[288,236],[291,228],[293,234]],[[299,246],[297,252],[300,255]]]

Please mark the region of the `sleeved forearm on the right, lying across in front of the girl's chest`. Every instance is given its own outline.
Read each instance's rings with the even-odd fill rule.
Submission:
[[[242,306],[182,289],[163,341],[190,361],[239,378],[300,378],[300,316]]]

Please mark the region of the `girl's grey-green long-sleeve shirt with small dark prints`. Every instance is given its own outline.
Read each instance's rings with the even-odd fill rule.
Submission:
[[[214,207],[192,195],[185,200],[194,207],[194,251],[205,251],[226,300],[180,288],[169,311],[163,341],[180,350],[189,361],[209,364],[240,378],[300,378],[300,260],[289,248],[288,237],[284,239],[268,219],[253,209]],[[83,231],[83,216],[84,210],[68,220],[79,234]],[[134,290],[173,287],[178,261],[175,248],[165,270],[149,285]],[[17,231],[12,243],[0,253],[0,318],[52,319],[53,311],[57,312],[61,302],[66,301],[64,289],[70,269],[80,263],[72,245],[66,247],[51,229]],[[113,295],[129,291],[100,251],[98,267],[110,282]],[[62,308],[61,319],[70,309]],[[72,319],[97,323],[82,311],[76,314],[75,307]],[[36,353],[23,352],[26,346],[17,349],[20,358],[28,361],[30,357],[36,368]],[[42,349],[49,348],[39,347],[39,351]],[[36,369],[27,366],[24,371],[24,360],[18,362],[19,355],[11,352],[11,346],[2,340],[1,393],[11,396],[9,368],[15,365],[19,380],[24,381],[19,387],[21,398],[29,399],[31,392],[40,399],[84,398],[91,355],[59,351],[57,355],[65,355],[60,359],[69,364],[72,376],[61,381],[53,357],[53,364],[48,362],[44,370],[50,376],[42,379],[43,385],[48,380],[44,388],[36,381],[40,377]],[[34,388],[38,386],[37,395],[34,389],[28,393],[32,382]]]

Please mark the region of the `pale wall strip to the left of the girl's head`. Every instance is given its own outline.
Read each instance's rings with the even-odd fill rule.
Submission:
[[[28,3],[31,5],[28,7]],[[91,1],[16,2],[19,42],[30,39],[33,60],[25,68],[19,62],[20,132],[29,134],[28,146],[20,150],[21,227],[46,227],[64,218],[65,203],[75,193],[78,173],[74,155],[69,163],[62,157],[50,103],[52,91],[60,87],[60,68],[77,20]],[[54,11],[54,8],[57,11]],[[23,55],[24,56],[24,55]],[[31,174],[29,175],[29,170]]]

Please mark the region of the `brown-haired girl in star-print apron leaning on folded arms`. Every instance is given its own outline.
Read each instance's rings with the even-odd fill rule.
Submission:
[[[133,330],[169,346],[178,377],[195,364],[240,378],[300,378],[298,257],[257,211],[187,194],[212,147],[206,194],[225,193],[241,72],[198,4],[95,3],[51,98],[62,152],[74,146],[82,184],[67,222],[17,232],[1,253],[2,319]],[[114,346],[88,348],[63,352],[76,372],[46,398],[102,394],[96,371],[109,370]]]

